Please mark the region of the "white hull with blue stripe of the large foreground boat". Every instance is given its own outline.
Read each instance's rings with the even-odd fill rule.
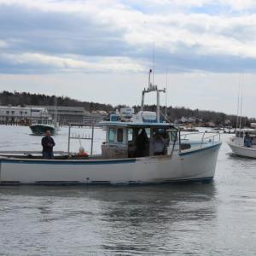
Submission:
[[[172,156],[122,160],[0,158],[0,183],[169,183],[211,180],[221,143]]]

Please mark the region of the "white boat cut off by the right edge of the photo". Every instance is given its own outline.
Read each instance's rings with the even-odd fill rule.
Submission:
[[[227,142],[234,154],[256,158],[256,130],[238,129],[236,136]]]

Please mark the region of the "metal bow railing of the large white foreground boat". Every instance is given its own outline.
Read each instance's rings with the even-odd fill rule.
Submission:
[[[199,148],[203,148],[205,144],[209,145],[209,143],[219,143],[220,142],[220,133],[215,131],[198,131],[198,132],[189,132],[189,133],[180,133],[180,144],[183,144],[185,141],[190,142],[191,137],[195,137],[196,141],[199,143],[197,146]],[[180,147],[181,148],[181,147]],[[180,151],[183,149],[180,149]]]

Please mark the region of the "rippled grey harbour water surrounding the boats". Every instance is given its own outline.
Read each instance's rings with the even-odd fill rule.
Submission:
[[[0,150],[41,149],[27,127],[0,131]],[[54,138],[67,150],[67,128]],[[256,160],[223,143],[213,183],[0,187],[0,255],[88,254],[256,255]]]

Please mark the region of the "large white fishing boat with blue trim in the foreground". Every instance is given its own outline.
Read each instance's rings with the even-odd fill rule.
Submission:
[[[144,95],[155,91],[157,113],[143,110]],[[190,141],[174,125],[160,122],[160,92],[150,83],[143,90],[141,111],[129,122],[116,117],[100,123],[106,140],[102,154],[66,154],[45,160],[35,154],[2,154],[0,183],[172,183],[209,182],[214,177],[220,135],[197,133]],[[70,126],[71,127],[71,126]],[[93,127],[92,127],[93,128]],[[91,152],[93,147],[91,133]],[[195,135],[195,134],[193,134]],[[200,137],[199,137],[200,136]],[[72,138],[69,130],[69,140]],[[88,139],[88,137],[86,137]]]

